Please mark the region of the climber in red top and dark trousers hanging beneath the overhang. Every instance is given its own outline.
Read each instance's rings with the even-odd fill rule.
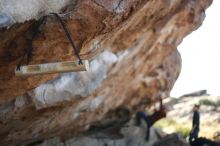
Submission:
[[[163,106],[162,99],[160,99],[160,109],[155,110],[152,115],[147,115],[144,112],[137,112],[136,114],[136,126],[141,125],[141,119],[143,119],[147,124],[147,131],[146,131],[146,137],[145,140],[149,140],[150,136],[150,128],[154,125],[155,122],[158,120],[166,117],[166,109]]]

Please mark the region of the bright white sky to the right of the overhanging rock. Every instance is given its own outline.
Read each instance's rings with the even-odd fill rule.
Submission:
[[[202,26],[178,46],[182,69],[171,96],[206,89],[220,96],[220,0],[206,10]]]

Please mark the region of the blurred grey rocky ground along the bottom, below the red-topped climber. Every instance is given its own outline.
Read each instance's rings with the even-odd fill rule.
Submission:
[[[33,146],[189,146],[188,143],[178,134],[167,135],[159,129],[151,128],[150,140],[145,141],[146,125],[142,122],[141,127],[136,127],[131,121],[121,128],[119,135],[109,133],[103,135],[93,133],[90,136],[75,137],[63,141],[60,137],[55,137],[46,141],[32,143]]]

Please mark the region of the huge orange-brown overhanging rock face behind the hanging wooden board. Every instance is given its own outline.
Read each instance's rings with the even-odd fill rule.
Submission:
[[[180,72],[176,48],[202,24],[211,2],[1,1],[2,19],[11,18],[8,27],[16,23],[0,31],[1,144],[67,139],[92,126],[126,123],[142,105],[167,97]],[[31,26],[49,12],[61,13],[91,70],[16,77],[14,68],[28,46]],[[60,24],[48,16],[33,41],[30,64],[72,59]]]

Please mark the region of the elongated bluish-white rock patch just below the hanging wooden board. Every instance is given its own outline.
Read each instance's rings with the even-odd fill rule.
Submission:
[[[60,102],[88,96],[106,78],[109,65],[116,62],[117,59],[115,54],[104,51],[91,61],[89,71],[64,73],[57,79],[37,87],[33,91],[36,107],[39,109],[54,106]],[[96,106],[100,102],[99,99],[101,97],[94,100],[94,104],[91,105]]]

